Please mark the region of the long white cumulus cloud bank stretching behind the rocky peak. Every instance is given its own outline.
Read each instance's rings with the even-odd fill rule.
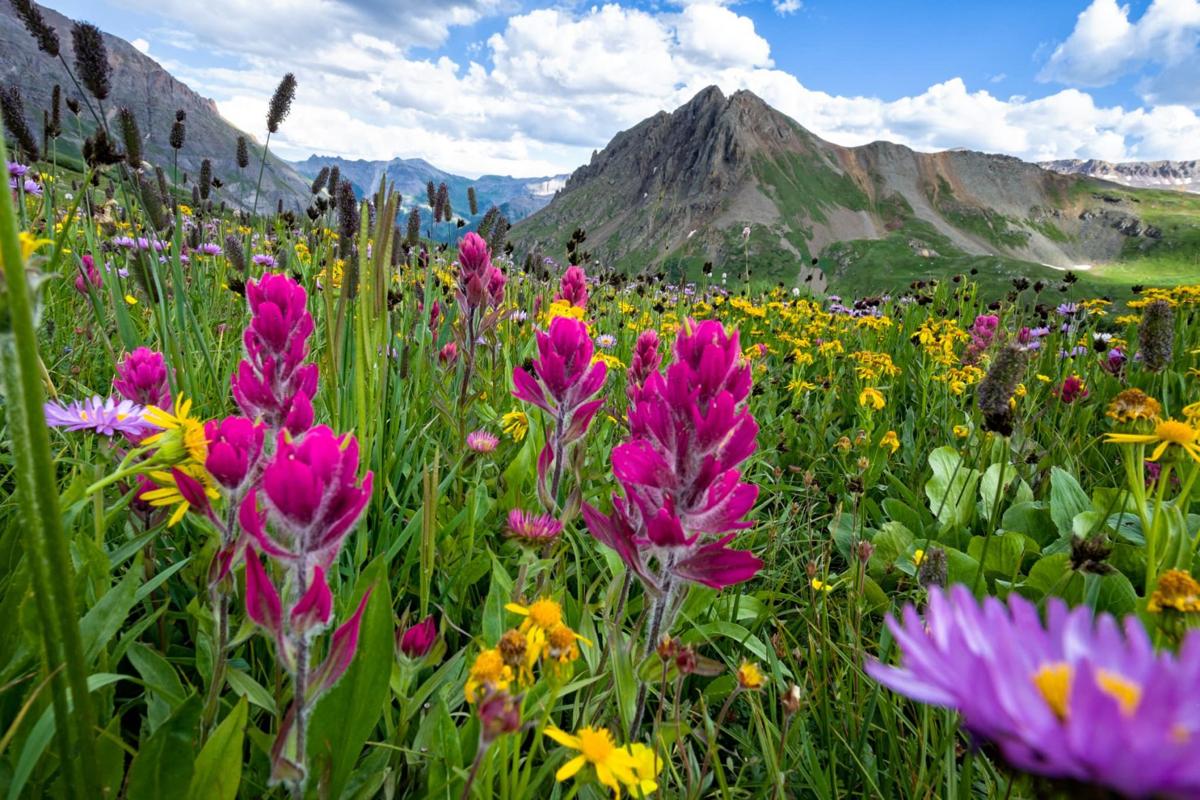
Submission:
[[[480,14],[502,1],[437,7]],[[367,17],[378,13],[370,4],[356,7]],[[1038,98],[1004,97],[949,78],[890,100],[817,91],[778,70],[754,22],[725,2],[534,10],[509,17],[467,62],[421,56],[386,26],[342,24],[337,35],[296,42],[302,58],[247,50],[229,67],[190,60],[166,66],[215,97],[222,113],[251,133],[263,128],[278,76],[294,71],[300,89],[292,116],[271,138],[284,156],[420,156],[469,175],[569,172],[616,132],[686,102],[709,84],[727,94],[749,89],[816,134],[846,145],[887,139],[922,150],[965,146],[1030,160],[1127,160],[1195,157],[1200,142],[1200,118],[1183,104],[1103,107],[1074,88]]]

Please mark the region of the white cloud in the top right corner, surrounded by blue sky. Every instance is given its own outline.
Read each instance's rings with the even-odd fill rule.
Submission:
[[[1128,5],[1092,0],[1039,77],[1104,86],[1136,73],[1147,102],[1200,106],[1200,0],[1152,0],[1138,20]]]

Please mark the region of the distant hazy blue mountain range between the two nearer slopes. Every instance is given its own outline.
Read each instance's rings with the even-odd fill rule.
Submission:
[[[337,167],[342,178],[350,181],[354,191],[361,197],[370,194],[379,186],[379,180],[386,178],[396,186],[403,198],[403,207],[410,210],[414,205],[421,207],[425,224],[428,223],[428,199],[426,185],[445,182],[450,191],[450,209],[456,217],[468,222],[468,227],[478,224],[487,210],[497,206],[509,222],[524,219],[538,211],[554,197],[566,182],[566,175],[542,178],[508,178],[503,175],[484,175],[478,179],[463,178],[438,169],[422,158],[392,158],[391,161],[362,161],[340,158],[336,156],[310,156],[294,162],[296,172],[308,178],[316,178],[323,167]],[[467,188],[475,187],[479,213],[468,213]]]

